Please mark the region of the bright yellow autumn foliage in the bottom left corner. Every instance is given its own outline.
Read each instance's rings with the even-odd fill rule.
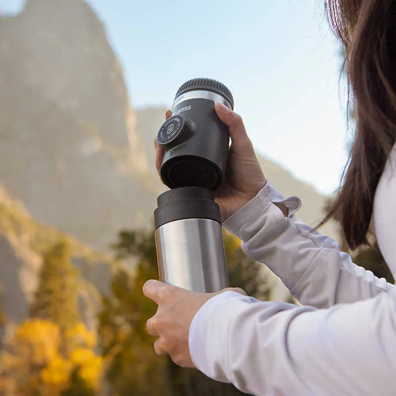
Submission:
[[[102,358],[95,355],[97,334],[84,323],[66,330],[42,319],[23,322],[1,354],[0,383],[14,396],[60,396],[71,374],[99,388]]]

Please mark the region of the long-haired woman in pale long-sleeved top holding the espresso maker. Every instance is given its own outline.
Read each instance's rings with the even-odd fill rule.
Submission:
[[[347,49],[357,119],[330,215],[341,213],[351,248],[366,243],[373,220],[396,275],[396,1],[328,0],[326,7]],[[284,199],[265,180],[241,117],[215,108],[232,139],[228,182],[217,196],[223,225],[304,305],[150,280],[144,293],[158,304],[147,323],[155,351],[255,395],[395,395],[396,287],[299,221],[299,199]],[[161,155],[157,148],[157,167]]]

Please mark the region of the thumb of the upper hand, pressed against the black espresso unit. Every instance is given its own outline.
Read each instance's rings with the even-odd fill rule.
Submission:
[[[228,126],[233,149],[241,155],[251,155],[254,153],[242,117],[217,101],[214,103],[214,109],[220,120]]]

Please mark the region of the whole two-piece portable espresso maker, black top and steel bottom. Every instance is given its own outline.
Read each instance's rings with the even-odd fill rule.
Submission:
[[[161,178],[171,189],[157,198],[155,245],[160,280],[200,293],[228,287],[220,208],[230,136],[214,102],[234,107],[230,90],[196,78],[176,93],[172,116],[157,134],[164,149]]]

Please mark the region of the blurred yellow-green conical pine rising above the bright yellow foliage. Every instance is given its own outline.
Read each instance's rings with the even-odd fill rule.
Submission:
[[[60,240],[44,254],[31,316],[50,320],[63,331],[79,320],[77,271],[70,246]]]

